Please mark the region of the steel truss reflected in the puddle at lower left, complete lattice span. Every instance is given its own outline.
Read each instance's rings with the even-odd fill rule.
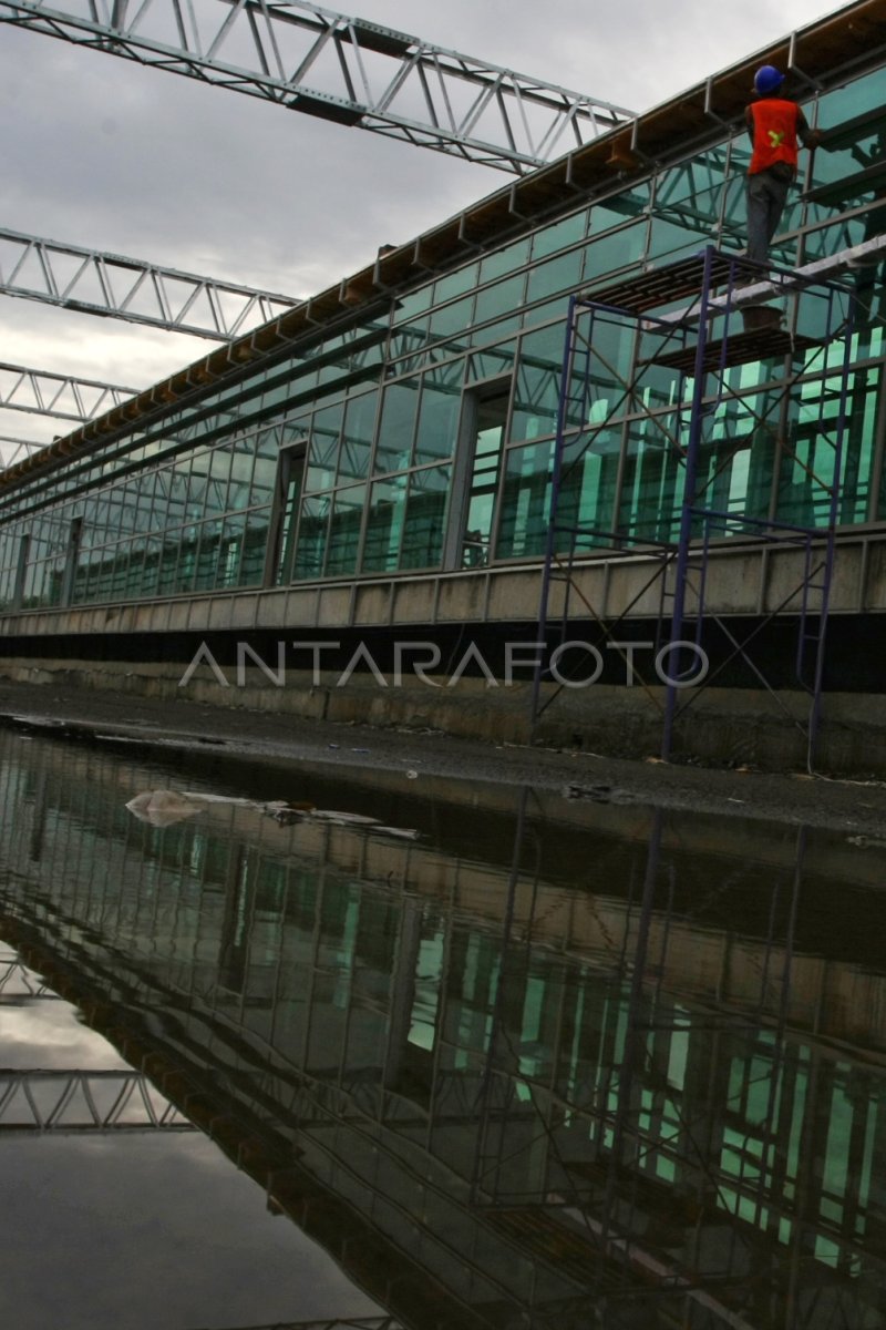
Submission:
[[[153,1129],[194,1130],[141,1072],[0,1071],[0,1136]]]

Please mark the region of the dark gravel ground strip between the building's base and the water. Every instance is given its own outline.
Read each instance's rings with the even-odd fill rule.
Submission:
[[[336,725],[53,685],[0,684],[0,724],[80,741],[114,735],[139,745],[218,751],[219,757],[226,751],[264,755],[341,767],[351,775],[359,769],[364,778],[371,770],[417,767],[425,775],[468,782],[570,790],[573,797],[595,802],[642,802],[886,838],[886,782],[712,770],[655,759],[634,762],[587,751],[473,742],[428,730]]]

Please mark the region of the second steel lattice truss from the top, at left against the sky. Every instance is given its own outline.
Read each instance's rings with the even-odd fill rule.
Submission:
[[[0,294],[215,342],[232,342],[300,303],[288,295],[5,227],[0,227]]]

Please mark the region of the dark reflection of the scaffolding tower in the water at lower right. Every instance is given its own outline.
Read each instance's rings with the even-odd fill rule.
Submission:
[[[510,992],[521,988],[522,947],[506,912],[473,1201],[541,1265],[574,1271],[584,1305],[591,1299],[596,1323],[611,1330],[854,1325],[855,1298],[871,1315],[878,1306],[882,1258],[871,1253],[870,1294],[853,1287],[861,1249],[841,1250],[809,1204],[828,1115],[805,1112],[800,1130],[796,1119],[798,1104],[825,1093],[789,1027],[806,829],[797,830],[793,870],[772,884],[756,1005],[732,1012],[692,1009],[663,990],[676,915],[663,829],[659,810],[632,895],[632,944],[626,939],[618,958],[598,1031],[599,1075],[571,1096],[527,1071]],[[518,829],[514,863],[521,839]],[[563,1009],[557,1025],[569,1041]],[[871,1103],[877,1095],[871,1088]],[[866,1222],[862,1202],[859,1233]],[[833,1249],[832,1270],[824,1248]],[[539,1306],[533,1325],[584,1325],[574,1311]]]

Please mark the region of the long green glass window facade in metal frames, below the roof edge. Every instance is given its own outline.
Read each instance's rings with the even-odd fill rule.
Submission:
[[[805,104],[828,129],[773,261],[808,262],[886,226],[882,70]],[[387,314],[207,390],[0,499],[0,609],[85,605],[325,579],[457,571],[543,553],[569,297],[716,245],[744,246],[744,133],[614,188],[392,301]],[[883,516],[879,266],[855,278],[841,521]],[[810,330],[814,332],[814,329]],[[595,347],[596,415],[562,503],[576,523],[672,535],[673,375]],[[765,422],[778,367],[729,371],[711,422],[717,507],[825,520],[834,364],[813,348]],[[626,391],[626,383],[632,384]],[[882,448],[882,440],[879,443]]]

